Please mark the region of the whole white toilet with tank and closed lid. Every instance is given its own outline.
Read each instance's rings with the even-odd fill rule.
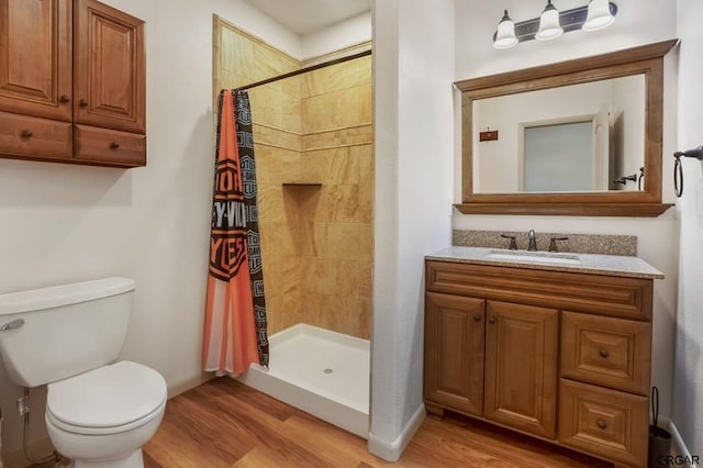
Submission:
[[[134,281],[105,278],[0,294],[0,356],[22,387],[48,385],[46,428],[76,468],[141,468],[166,408],[156,370],[114,363]],[[114,364],[111,364],[114,363]]]

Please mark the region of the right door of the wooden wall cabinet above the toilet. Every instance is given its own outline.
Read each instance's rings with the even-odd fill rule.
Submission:
[[[75,7],[74,121],[145,133],[144,22],[94,0]]]

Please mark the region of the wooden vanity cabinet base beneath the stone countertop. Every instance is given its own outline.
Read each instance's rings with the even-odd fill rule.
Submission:
[[[646,466],[652,280],[427,260],[424,398]]]

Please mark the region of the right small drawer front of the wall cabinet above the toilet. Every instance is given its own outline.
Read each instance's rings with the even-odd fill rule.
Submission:
[[[76,125],[76,159],[132,167],[146,164],[146,135]]]

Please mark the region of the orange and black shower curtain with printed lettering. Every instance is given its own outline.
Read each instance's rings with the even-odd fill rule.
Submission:
[[[256,192],[249,98],[222,90],[203,337],[203,369],[217,375],[268,366]]]

